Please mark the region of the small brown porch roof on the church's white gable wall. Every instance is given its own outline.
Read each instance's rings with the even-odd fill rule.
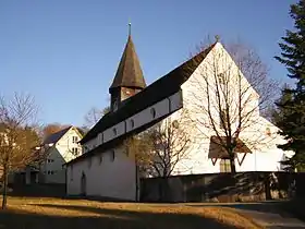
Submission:
[[[220,138],[225,142],[225,136],[220,136]],[[252,150],[246,146],[246,144],[237,138],[237,145],[235,148],[235,153],[245,153],[251,154]],[[229,154],[228,152],[222,147],[222,144],[218,136],[211,136],[210,137],[210,145],[209,145],[209,158],[228,158]],[[236,157],[236,154],[235,154]]]

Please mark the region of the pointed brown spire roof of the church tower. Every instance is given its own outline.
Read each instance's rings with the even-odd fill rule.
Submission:
[[[136,55],[131,35],[129,35],[127,44],[125,46],[117,74],[109,91],[122,86],[136,87],[141,89],[146,87],[146,83],[139,65],[139,60]]]

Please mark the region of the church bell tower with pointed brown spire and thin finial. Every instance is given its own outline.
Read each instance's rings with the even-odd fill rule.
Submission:
[[[135,95],[146,87],[139,60],[131,36],[129,23],[129,38],[122,55],[113,82],[109,88],[111,96],[110,108],[115,111],[124,99]]]

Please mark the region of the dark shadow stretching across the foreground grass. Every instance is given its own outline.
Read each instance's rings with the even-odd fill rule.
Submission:
[[[61,229],[61,228],[234,228],[195,215],[143,213],[125,209],[105,209],[91,206],[66,205],[35,205],[56,209],[73,209],[83,212],[80,216],[47,216],[29,214],[26,212],[7,210],[0,212],[0,229]],[[34,206],[34,207],[35,207]],[[95,213],[97,216],[85,216],[86,213]]]

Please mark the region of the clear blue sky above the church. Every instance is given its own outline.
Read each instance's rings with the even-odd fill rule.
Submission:
[[[28,0],[0,1],[0,94],[28,93],[41,123],[82,125],[91,107],[109,105],[109,86],[127,39],[127,24],[147,84],[208,36],[242,40],[270,77],[289,82],[273,57],[296,0]]]

